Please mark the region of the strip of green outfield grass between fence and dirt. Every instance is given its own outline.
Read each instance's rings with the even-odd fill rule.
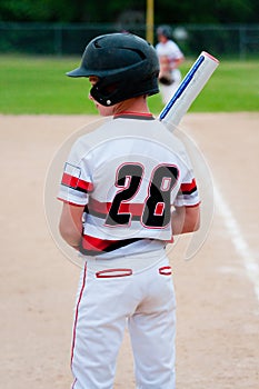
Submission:
[[[183,76],[193,61],[181,67]],[[88,80],[64,76],[79,62],[80,58],[0,56],[0,113],[97,113],[88,99]],[[189,111],[259,111],[258,69],[259,60],[222,60]],[[160,94],[149,99],[149,107],[155,114],[161,111]]]

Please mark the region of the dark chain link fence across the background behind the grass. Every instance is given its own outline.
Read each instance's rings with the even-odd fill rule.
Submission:
[[[130,31],[146,38],[145,24],[122,28],[104,23],[0,23],[0,53],[81,54],[86,44],[102,33]],[[258,58],[259,24],[185,24],[173,26],[173,39],[186,57],[201,50],[222,58]],[[157,42],[155,41],[153,44]]]

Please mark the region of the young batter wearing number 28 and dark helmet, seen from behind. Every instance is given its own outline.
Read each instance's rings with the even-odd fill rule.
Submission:
[[[73,389],[111,389],[128,326],[136,386],[175,388],[176,299],[166,246],[195,231],[199,198],[181,142],[155,120],[155,48],[97,37],[70,77],[87,77],[107,118],[73,144],[59,190],[60,233],[84,259],[74,309]],[[126,382],[127,387],[127,382]]]

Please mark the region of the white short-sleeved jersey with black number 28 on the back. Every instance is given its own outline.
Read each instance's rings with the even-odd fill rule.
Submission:
[[[156,250],[172,241],[172,207],[199,203],[185,147],[151,114],[120,114],[78,139],[59,199],[84,207],[80,251]]]

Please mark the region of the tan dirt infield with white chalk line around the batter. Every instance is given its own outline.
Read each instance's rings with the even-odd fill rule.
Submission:
[[[0,116],[1,387],[71,385],[70,338],[79,267],[46,223],[49,164],[64,139],[96,118]],[[187,114],[181,129],[206,157],[217,196],[195,258],[170,251],[178,301],[177,388],[259,388],[259,113]],[[135,388],[126,333],[117,389]],[[159,388],[157,388],[159,389]]]

